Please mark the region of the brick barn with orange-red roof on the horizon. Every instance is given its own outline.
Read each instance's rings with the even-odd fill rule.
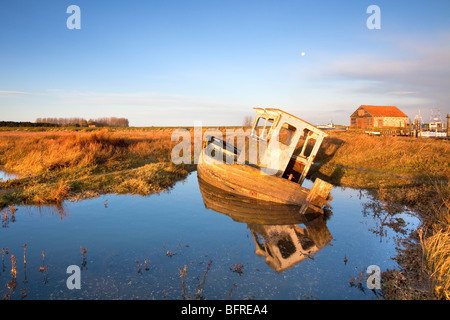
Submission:
[[[362,105],[350,116],[354,128],[405,128],[408,116],[394,106]]]

